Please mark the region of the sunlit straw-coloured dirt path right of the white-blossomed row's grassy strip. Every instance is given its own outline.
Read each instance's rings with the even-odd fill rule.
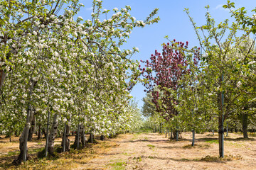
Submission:
[[[220,161],[217,137],[196,134],[196,147],[191,147],[191,133],[183,133],[178,142],[156,133],[119,135],[111,140],[117,147],[76,169],[256,169],[255,138],[230,134],[225,140],[228,157]]]

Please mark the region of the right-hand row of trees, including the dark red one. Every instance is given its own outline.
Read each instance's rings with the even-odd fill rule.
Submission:
[[[188,42],[169,40],[141,67],[148,92],[142,111],[154,123],[174,129],[177,139],[181,130],[192,130],[194,136],[195,130],[218,129],[220,157],[224,125],[238,128],[240,121],[246,138],[248,124],[255,123],[256,97],[255,38],[250,38],[255,17],[246,16],[245,8],[233,11],[230,1],[223,7],[230,8],[236,23],[216,24],[207,12],[206,24],[198,27],[185,9],[200,47],[188,50]]]

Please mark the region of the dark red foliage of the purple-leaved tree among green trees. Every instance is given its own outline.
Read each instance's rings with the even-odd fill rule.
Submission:
[[[171,96],[169,91],[166,91],[164,88],[173,89],[177,91],[178,88],[181,88],[182,85],[179,84],[180,79],[183,78],[185,74],[191,74],[189,69],[188,61],[186,58],[188,48],[188,41],[183,42],[174,42],[170,45],[168,42],[167,45],[163,46],[161,53],[155,50],[155,54],[151,55],[150,61],[146,60],[145,67],[142,68],[139,65],[139,69],[142,71],[144,78],[148,79],[149,82],[144,84],[146,87],[146,92],[151,93],[153,96],[152,103],[155,103],[156,110],[161,113],[167,113],[169,118],[173,115],[178,114],[175,109],[175,105],[178,104],[177,98]],[[198,50],[193,51],[193,64],[198,65],[199,53]],[[149,68],[152,69],[152,72],[149,71]],[[159,86],[159,91],[154,91],[154,87]],[[158,100],[161,97],[161,101],[164,105],[161,107],[158,106]],[[168,117],[166,119],[169,119]]]

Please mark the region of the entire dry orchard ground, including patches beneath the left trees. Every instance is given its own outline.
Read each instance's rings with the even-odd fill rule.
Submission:
[[[158,133],[122,134],[80,152],[60,154],[58,159],[32,158],[19,166],[4,159],[16,156],[10,152],[17,152],[18,142],[8,145],[1,139],[0,169],[256,169],[256,137],[244,140],[229,133],[224,159],[218,158],[218,134],[196,134],[195,147],[191,147],[191,132],[183,132],[182,137],[176,142]],[[28,142],[28,147],[41,148],[43,143]]]

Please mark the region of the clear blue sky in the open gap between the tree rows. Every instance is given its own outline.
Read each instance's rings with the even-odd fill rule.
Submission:
[[[85,15],[90,16],[92,0],[81,2],[86,8],[85,11],[81,11],[83,18]],[[255,0],[233,0],[233,2],[238,8],[245,6],[247,11],[251,11],[256,6]],[[103,0],[102,5],[110,10],[129,5],[132,7],[131,15],[138,20],[144,20],[154,8],[159,8],[158,16],[161,18],[159,23],[144,28],[135,28],[127,40],[127,44],[124,45],[124,49],[139,47],[139,53],[132,57],[133,60],[149,60],[154,50],[161,52],[161,44],[168,42],[164,39],[165,35],[169,35],[171,40],[175,38],[178,41],[188,41],[188,47],[198,45],[196,33],[186,12],[183,11],[184,8],[189,8],[194,22],[201,26],[206,23],[206,8],[204,7],[207,5],[210,6],[210,15],[215,18],[216,23],[230,18],[229,11],[222,8],[226,3],[226,0]],[[132,96],[138,101],[139,108],[141,108],[143,106],[142,98],[146,96],[144,86],[137,84],[132,90]]]

